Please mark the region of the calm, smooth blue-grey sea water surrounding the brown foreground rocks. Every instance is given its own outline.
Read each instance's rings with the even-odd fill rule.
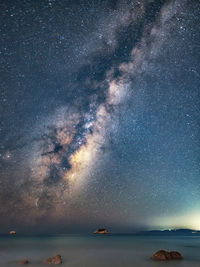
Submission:
[[[153,262],[159,249],[178,250],[182,261]],[[200,267],[200,236],[59,235],[0,238],[0,266],[46,266],[43,260],[61,254],[66,267]]]

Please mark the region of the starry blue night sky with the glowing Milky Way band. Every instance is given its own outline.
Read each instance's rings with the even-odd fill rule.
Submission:
[[[200,229],[200,3],[0,1],[0,232]]]

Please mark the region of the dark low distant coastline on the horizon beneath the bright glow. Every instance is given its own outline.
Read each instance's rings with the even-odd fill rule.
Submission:
[[[200,231],[192,229],[169,229],[140,231],[136,235],[200,235]]]

